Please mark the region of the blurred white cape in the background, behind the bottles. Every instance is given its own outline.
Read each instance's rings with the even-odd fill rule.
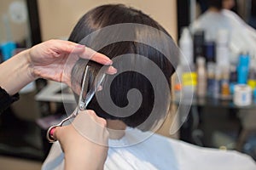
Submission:
[[[227,30],[230,33],[230,52],[232,59],[237,61],[241,53],[256,55],[256,31],[233,11],[222,9],[220,12],[207,10],[195,20],[191,26],[194,33],[197,30],[205,31],[206,41],[216,42],[219,30]]]

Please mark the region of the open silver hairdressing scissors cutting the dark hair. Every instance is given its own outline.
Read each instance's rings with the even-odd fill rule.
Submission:
[[[93,68],[93,66],[86,65],[85,71],[84,71],[84,79],[82,82],[82,88],[79,94],[79,104],[76,107],[76,110],[73,111],[73,113],[70,116],[67,116],[67,118],[63,119],[60,123],[49,127],[46,133],[46,139],[48,139],[49,143],[54,143],[56,141],[56,139],[54,139],[53,137],[53,132],[55,127],[63,126],[64,122],[67,122],[75,118],[76,116],[78,116],[80,111],[85,111],[87,105],[90,103],[90,100],[92,99],[94,94],[96,94],[97,89],[102,84],[102,81],[106,76],[105,72],[98,72],[96,77],[93,77],[91,75],[92,71],[96,71],[96,69]]]

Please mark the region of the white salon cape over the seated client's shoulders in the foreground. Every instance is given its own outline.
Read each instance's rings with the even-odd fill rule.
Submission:
[[[104,169],[109,170],[255,170],[250,156],[234,150],[207,149],[153,134],[138,143],[148,132],[126,130],[119,140],[109,140],[108,158]],[[133,145],[131,145],[133,144]],[[131,146],[129,146],[131,145]],[[82,155],[81,155],[82,156]],[[44,161],[43,170],[64,169],[64,154],[59,143],[53,144]]]

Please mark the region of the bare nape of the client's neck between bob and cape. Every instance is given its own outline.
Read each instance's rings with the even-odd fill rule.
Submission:
[[[124,122],[119,120],[107,120],[107,127],[109,139],[121,139],[125,136],[125,128],[127,126]]]

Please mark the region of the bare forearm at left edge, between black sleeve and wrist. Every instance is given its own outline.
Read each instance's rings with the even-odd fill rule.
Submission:
[[[26,84],[35,80],[28,62],[29,50],[16,54],[0,65],[0,87],[10,95],[16,94]]]

